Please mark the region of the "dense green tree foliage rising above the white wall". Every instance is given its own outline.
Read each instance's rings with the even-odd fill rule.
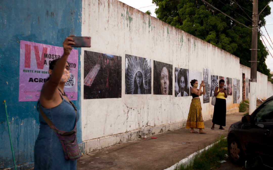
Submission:
[[[259,0],[259,13],[269,1]],[[207,0],[207,2],[235,20],[252,27],[252,1]],[[250,67],[251,29],[236,23],[200,0],[153,0],[153,3],[158,7],[155,10],[158,19],[238,56],[241,64]],[[259,20],[262,22],[259,28],[266,24],[264,18],[270,14],[270,9],[267,6],[260,14]],[[269,76],[270,70],[265,64],[268,51],[260,40],[260,33],[258,49],[260,50],[257,51],[257,60],[260,62],[257,64],[257,70]]]

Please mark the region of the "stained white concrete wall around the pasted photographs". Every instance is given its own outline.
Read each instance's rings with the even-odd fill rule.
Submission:
[[[82,80],[84,50],[122,57],[121,98],[84,100],[82,84],[82,140],[87,152],[184,125],[192,97],[174,97],[175,67],[199,72],[208,68],[211,75],[240,79],[242,92],[238,57],[117,0],[83,0],[82,35],[91,36],[91,47],[81,53]],[[173,95],[153,95],[153,61],[152,95],[125,95],[125,54],[173,64]],[[201,103],[203,118],[211,118],[212,105]],[[232,96],[227,110],[238,110]]]

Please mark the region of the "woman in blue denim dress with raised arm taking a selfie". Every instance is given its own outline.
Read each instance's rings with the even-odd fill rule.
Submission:
[[[67,151],[70,154],[67,157],[68,154],[64,153],[64,146],[61,144],[62,136],[59,135],[62,132],[76,134],[76,121],[79,117],[76,107],[64,93],[64,84],[70,77],[67,58],[72,50],[70,45],[75,45],[72,37],[64,40],[62,57],[49,64],[49,79],[41,89],[37,104],[37,109],[38,106],[40,109],[40,131],[34,146],[34,169],[76,169],[78,144],[74,144],[75,152],[72,151],[72,154]],[[72,142],[75,141],[76,135]]]

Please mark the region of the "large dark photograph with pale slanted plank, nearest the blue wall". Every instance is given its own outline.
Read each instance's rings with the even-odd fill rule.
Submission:
[[[121,97],[121,57],[84,51],[84,99]]]

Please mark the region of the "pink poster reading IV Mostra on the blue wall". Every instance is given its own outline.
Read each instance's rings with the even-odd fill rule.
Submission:
[[[19,101],[38,101],[41,88],[49,77],[49,63],[63,55],[63,47],[20,41]],[[73,49],[67,59],[70,78],[64,92],[70,100],[77,100],[78,50]]]

